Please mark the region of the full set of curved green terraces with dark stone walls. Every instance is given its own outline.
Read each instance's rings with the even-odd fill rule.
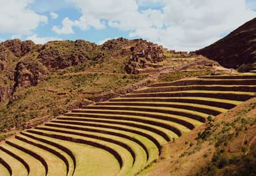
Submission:
[[[0,146],[0,173],[132,176],[158,158],[162,144],[255,92],[255,74],[152,84],[21,132]]]

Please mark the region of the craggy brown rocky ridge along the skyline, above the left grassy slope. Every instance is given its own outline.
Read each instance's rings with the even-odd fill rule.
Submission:
[[[1,42],[0,103],[10,98],[17,87],[36,86],[46,76],[95,70],[131,73],[129,70],[144,67],[139,59],[130,61],[132,56],[149,46],[157,48],[150,53],[155,57],[149,62],[162,61],[163,48],[143,39],[111,39],[100,46],[82,39],[50,41],[44,45],[20,39]]]

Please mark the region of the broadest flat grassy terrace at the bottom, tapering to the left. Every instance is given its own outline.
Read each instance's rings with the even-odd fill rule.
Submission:
[[[27,130],[26,134],[42,138],[43,140],[52,141],[60,144],[66,149],[70,149],[74,155],[74,158],[76,159],[76,170],[74,172],[74,175],[76,176],[83,175],[84,173],[99,176],[104,174],[116,175],[119,172],[118,161],[107,151],[97,147],[91,147],[86,144],[74,143],[72,141],[60,140],[58,138],[35,134],[34,132],[37,132],[37,130]]]

